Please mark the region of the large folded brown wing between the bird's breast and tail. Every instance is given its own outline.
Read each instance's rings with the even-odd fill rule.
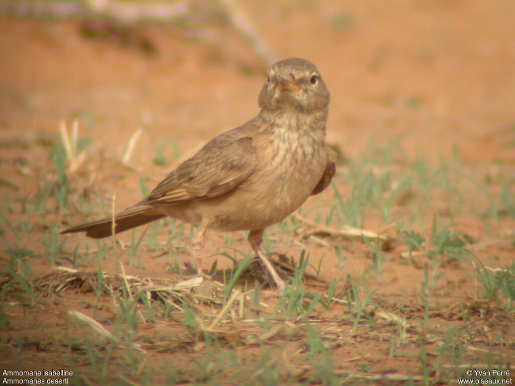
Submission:
[[[245,180],[257,163],[246,130],[225,132],[168,174],[142,203],[166,205],[220,196]]]

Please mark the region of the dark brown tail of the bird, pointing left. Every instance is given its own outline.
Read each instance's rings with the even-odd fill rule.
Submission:
[[[150,205],[135,205],[125,209],[114,216],[114,233],[127,231],[138,225],[156,221],[165,215],[157,212],[156,208]],[[86,236],[95,239],[111,236],[113,234],[113,218],[105,217],[98,221],[72,226],[60,233],[86,232]]]

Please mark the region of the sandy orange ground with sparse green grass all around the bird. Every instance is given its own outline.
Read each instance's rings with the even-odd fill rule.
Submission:
[[[73,370],[75,384],[513,376],[514,21],[512,0],[0,0],[6,369]],[[125,272],[170,287],[188,272],[193,227],[163,220],[117,242],[59,232],[138,202],[253,118],[266,68],[288,57],[320,69],[328,142],[343,162],[265,241],[280,261],[305,269],[311,259],[306,272],[325,282],[305,288],[324,307],[317,296],[327,293],[328,309],[304,302],[300,279],[273,312],[276,300],[261,312],[256,295],[229,313],[236,298],[226,302],[231,286],[221,284],[219,313],[189,294],[183,310],[139,289],[118,296]],[[378,235],[349,237],[362,234],[349,225]],[[249,250],[243,232],[212,232],[203,268],[225,282]],[[63,276],[72,266],[77,275]],[[262,272],[240,284],[252,286],[252,271]],[[113,291],[106,277],[117,272],[125,282]],[[89,327],[70,310],[93,318]],[[308,315],[313,328],[297,323]]]

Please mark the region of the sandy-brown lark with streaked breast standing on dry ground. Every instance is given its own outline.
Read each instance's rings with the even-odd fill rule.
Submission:
[[[283,221],[327,188],[336,170],[325,143],[330,94],[317,67],[289,58],[267,71],[259,114],[211,139],[137,204],[114,215],[114,233],[164,217],[198,225],[192,238],[197,274],[208,230],[249,231],[247,240],[279,292],[285,282],[262,250],[266,227]],[[113,217],[61,234],[111,236]]]

